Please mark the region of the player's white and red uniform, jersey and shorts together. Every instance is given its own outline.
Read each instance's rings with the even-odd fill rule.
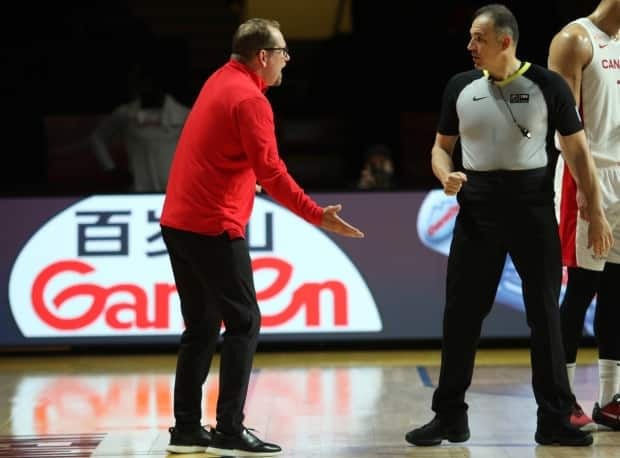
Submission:
[[[577,187],[561,157],[555,176],[556,211],[564,265],[601,271],[606,262],[620,264],[620,41],[587,18],[573,23],[587,31],[592,45],[592,61],[582,71],[580,105],[614,247],[604,257],[588,248],[588,223],[577,214]]]

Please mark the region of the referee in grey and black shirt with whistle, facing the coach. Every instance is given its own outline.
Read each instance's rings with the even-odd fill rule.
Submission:
[[[589,243],[599,255],[609,250],[611,230],[583,125],[562,77],[516,57],[518,25],[505,6],[476,11],[470,35],[475,69],[448,82],[432,149],[433,172],[460,205],[448,258],[436,415],[406,439],[415,445],[469,439],[465,392],[482,322],[510,255],[531,330],[535,440],[590,445],[592,436],[569,423],[573,396],[560,332],[562,264],[553,199],[557,130],[564,160],[589,203]],[[464,172],[454,171],[451,159],[459,137]]]

